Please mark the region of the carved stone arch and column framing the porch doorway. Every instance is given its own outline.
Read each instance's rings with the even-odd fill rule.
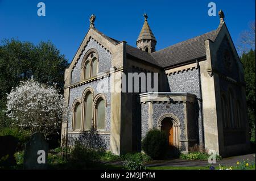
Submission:
[[[172,127],[173,127],[173,132],[174,132],[174,146],[176,146],[177,148],[180,147],[180,144],[179,144],[179,132],[180,132],[180,121],[179,119],[177,118],[177,116],[175,116],[174,114],[172,113],[167,113],[167,114],[164,114],[162,115],[161,117],[159,117],[158,119],[158,129],[161,129],[162,128],[162,121],[166,118],[170,118],[170,120],[172,121]]]

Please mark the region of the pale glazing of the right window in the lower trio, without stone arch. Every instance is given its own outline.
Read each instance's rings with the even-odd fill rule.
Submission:
[[[105,129],[105,100],[99,99],[96,104],[96,128]]]

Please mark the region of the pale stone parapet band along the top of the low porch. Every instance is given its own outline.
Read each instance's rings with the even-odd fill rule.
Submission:
[[[196,95],[187,92],[147,92],[139,94],[141,103],[195,103]]]

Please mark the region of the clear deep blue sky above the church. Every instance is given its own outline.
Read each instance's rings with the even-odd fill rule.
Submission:
[[[46,16],[38,16],[38,3],[46,5]],[[0,0],[0,40],[52,41],[70,62],[96,15],[95,27],[105,35],[135,46],[143,25],[143,13],[156,40],[156,50],[215,30],[217,16],[208,16],[208,3],[225,13],[225,22],[234,43],[255,20],[255,0],[195,1],[50,1]]]

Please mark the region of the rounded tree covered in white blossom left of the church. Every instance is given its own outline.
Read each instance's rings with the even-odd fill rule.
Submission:
[[[67,116],[64,98],[55,86],[46,86],[33,79],[20,82],[7,94],[7,116],[13,124],[31,133],[45,136],[57,133]]]

